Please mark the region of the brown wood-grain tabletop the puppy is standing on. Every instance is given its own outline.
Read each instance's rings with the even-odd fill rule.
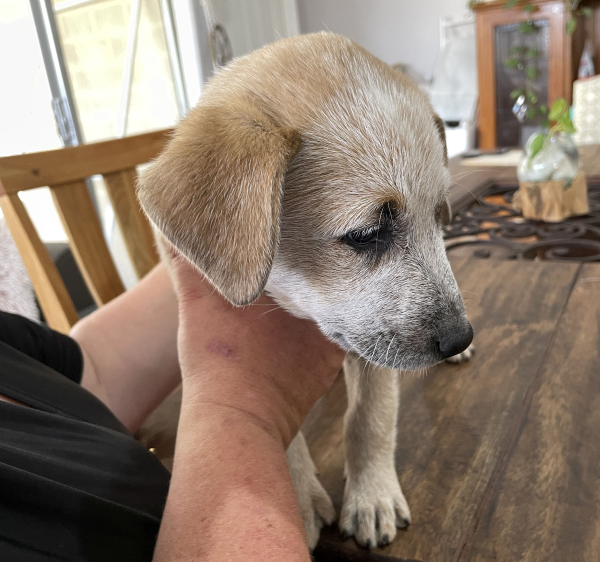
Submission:
[[[377,559],[596,562],[600,264],[452,265],[477,353],[403,376],[397,467],[413,523]],[[338,510],[345,404],[339,380],[306,428]],[[317,560],[343,556],[375,560],[325,530]]]

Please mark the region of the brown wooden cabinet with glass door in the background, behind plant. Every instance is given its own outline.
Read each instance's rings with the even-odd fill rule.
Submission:
[[[519,24],[532,20],[536,26],[539,46],[539,103],[551,104],[563,97],[569,102],[573,81],[577,77],[579,60],[586,36],[592,40],[596,69],[600,61],[599,2],[587,2],[593,9],[592,18],[579,18],[572,35],[567,34],[568,14],[562,1],[533,0],[534,11],[522,11],[525,2],[505,9],[504,0],[481,2],[474,8],[477,27],[477,58],[479,74],[479,147],[484,149],[515,146],[520,142],[521,125],[512,112],[515,100],[510,93],[519,85],[504,65],[509,50],[518,39]],[[514,74],[514,73],[513,73]]]

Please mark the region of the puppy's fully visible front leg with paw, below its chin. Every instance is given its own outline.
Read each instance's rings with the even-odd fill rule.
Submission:
[[[398,372],[346,356],[348,410],[344,418],[346,487],[340,530],[367,548],[384,545],[410,524],[396,474]]]

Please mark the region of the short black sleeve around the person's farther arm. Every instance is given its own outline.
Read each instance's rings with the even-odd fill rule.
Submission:
[[[72,381],[81,382],[83,354],[73,338],[17,314],[0,311],[0,341]]]

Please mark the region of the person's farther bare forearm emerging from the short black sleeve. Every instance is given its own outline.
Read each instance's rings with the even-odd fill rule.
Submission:
[[[84,355],[81,385],[130,431],[181,380],[177,296],[164,264],[71,331]]]

